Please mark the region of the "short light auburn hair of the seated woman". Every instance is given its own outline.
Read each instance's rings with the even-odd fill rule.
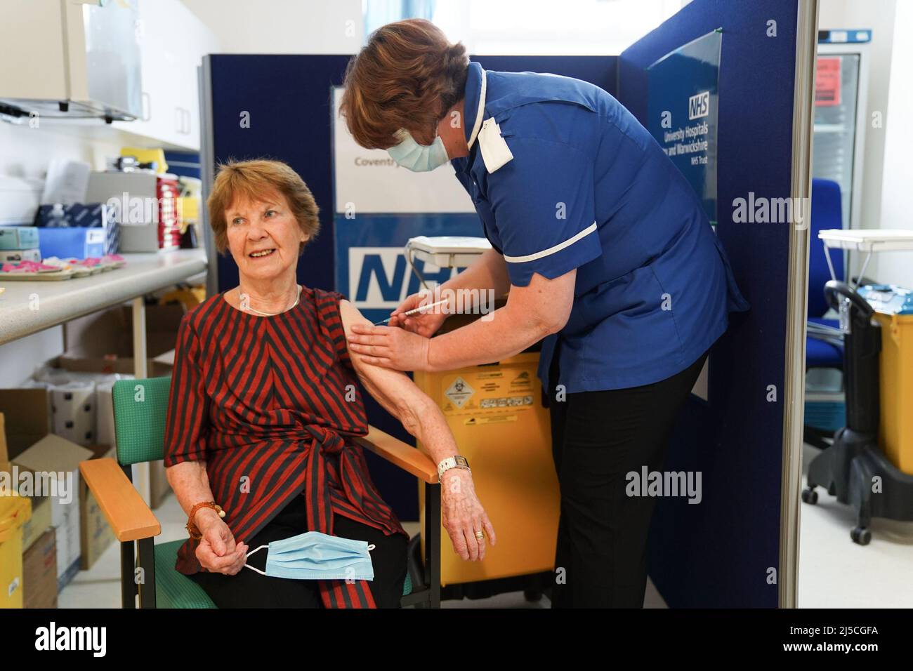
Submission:
[[[320,232],[320,208],[308,185],[288,163],[269,159],[229,159],[219,165],[213,190],[206,199],[216,251],[223,254],[228,248],[226,210],[235,204],[236,199],[257,203],[277,195],[285,198],[300,229],[308,236],[308,242],[313,240]],[[307,243],[304,242],[299,245],[299,256],[304,252],[305,245]]]

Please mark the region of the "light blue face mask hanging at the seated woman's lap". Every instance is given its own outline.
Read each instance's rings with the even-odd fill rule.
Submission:
[[[273,540],[256,550],[267,548],[267,570],[245,564],[251,571],[272,578],[296,580],[373,580],[374,567],[365,540],[343,539],[320,531],[307,531],[288,539]]]

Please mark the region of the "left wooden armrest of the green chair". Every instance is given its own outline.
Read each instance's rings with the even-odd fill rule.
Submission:
[[[162,533],[159,520],[114,459],[80,461],[79,472],[121,543]]]

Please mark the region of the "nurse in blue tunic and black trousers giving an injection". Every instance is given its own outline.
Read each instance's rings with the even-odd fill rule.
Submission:
[[[603,89],[486,71],[418,19],[352,58],[342,113],[356,142],[405,168],[449,161],[472,197],[492,249],[439,289],[509,289],[493,319],[435,338],[446,314],[401,317],[435,299],[409,297],[350,350],[447,371],[542,341],[561,485],[552,604],[641,607],[655,499],[628,496],[626,475],[662,470],[709,348],[748,309],[698,197]]]

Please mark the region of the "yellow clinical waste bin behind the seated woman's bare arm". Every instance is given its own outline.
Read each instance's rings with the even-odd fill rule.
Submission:
[[[415,372],[415,383],[441,408],[458,453],[468,459],[498,538],[484,561],[464,561],[441,529],[442,586],[554,568],[560,497],[538,364],[533,351],[457,371]],[[425,529],[425,488],[418,491]]]

